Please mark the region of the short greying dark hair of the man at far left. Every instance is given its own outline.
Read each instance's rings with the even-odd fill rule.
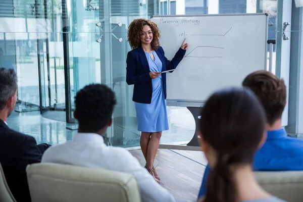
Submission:
[[[3,110],[17,90],[17,75],[14,69],[0,68],[0,110]]]

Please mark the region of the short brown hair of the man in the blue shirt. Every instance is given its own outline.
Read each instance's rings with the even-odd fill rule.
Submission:
[[[242,85],[258,96],[269,125],[281,119],[286,104],[286,86],[283,79],[269,71],[260,70],[246,76]]]

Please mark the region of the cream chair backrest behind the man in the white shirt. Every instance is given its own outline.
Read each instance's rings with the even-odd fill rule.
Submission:
[[[128,173],[54,163],[28,165],[26,173],[32,202],[141,201]]]

